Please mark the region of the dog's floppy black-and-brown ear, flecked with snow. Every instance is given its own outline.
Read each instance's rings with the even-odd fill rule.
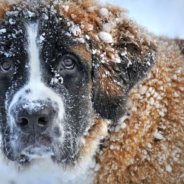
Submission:
[[[93,105],[102,118],[117,122],[126,111],[130,90],[154,65],[156,49],[121,34],[114,44],[100,44],[105,49],[93,55]]]

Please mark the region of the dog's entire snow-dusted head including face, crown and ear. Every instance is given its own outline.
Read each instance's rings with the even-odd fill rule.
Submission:
[[[118,121],[153,65],[154,44],[123,10],[92,3],[1,4],[0,124],[10,160],[49,156],[68,166],[90,157],[105,120]]]

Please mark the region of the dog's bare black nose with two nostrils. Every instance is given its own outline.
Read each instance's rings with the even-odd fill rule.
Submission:
[[[36,112],[22,109],[19,110],[17,116],[17,126],[25,133],[35,132],[41,134],[48,128],[53,115],[53,110],[47,107]]]

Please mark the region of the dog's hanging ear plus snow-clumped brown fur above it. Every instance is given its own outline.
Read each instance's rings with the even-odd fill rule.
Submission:
[[[82,25],[92,50],[94,110],[116,122],[125,113],[130,90],[154,65],[156,39],[128,19],[127,11],[120,7],[96,6],[91,0],[80,3],[67,4],[64,16]]]

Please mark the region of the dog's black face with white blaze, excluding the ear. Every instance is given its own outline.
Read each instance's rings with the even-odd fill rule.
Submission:
[[[91,55],[56,15],[19,16],[7,15],[1,26],[5,154],[17,161],[24,155],[73,161],[92,120]]]

